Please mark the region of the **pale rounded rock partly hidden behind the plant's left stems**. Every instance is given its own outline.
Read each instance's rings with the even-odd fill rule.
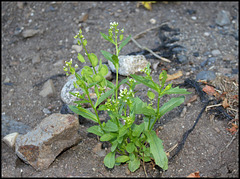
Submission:
[[[108,67],[108,65],[107,65],[107,67]],[[96,70],[97,69],[98,69],[98,66],[96,66]],[[109,69],[109,67],[108,67],[108,69]],[[79,70],[77,73],[81,75],[81,71],[82,70]],[[108,74],[105,76],[105,78],[107,80],[112,79],[112,73],[111,73],[110,70],[108,70]],[[73,93],[79,92],[80,94],[83,94],[82,89],[80,87],[76,89],[73,85],[73,82],[76,82],[76,77],[75,77],[75,75],[70,75],[67,78],[67,82],[65,83],[65,85],[63,86],[63,88],[61,90],[61,99],[67,105],[73,105],[73,101],[78,100],[77,97],[71,95],[69,92],[73,92]],[[90,92],[90,96],[92,98],[96,98],[96,94],[94,93],[94,89],[90,88],[89,92]]]

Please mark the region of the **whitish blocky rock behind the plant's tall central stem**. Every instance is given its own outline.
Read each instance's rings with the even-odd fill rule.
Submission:
[[[123,76],[129,76],[130,74],[139,73],[147,66],[148,63],[150,63],[143,55],[119,56],[118,59],[118,74]],[[116,73],[115,66],[111,61],[108,61],[108,65],[111,71]]]

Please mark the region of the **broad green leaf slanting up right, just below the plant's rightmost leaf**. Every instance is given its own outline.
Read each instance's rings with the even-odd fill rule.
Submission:
[[[158,118],[163,116],[165,113],[171,111],[173,108],[182,104],[184,102],[184,99],[185,99],[184,96],[179,96],[176,98],[171,98],[168,102],[164,103],[159,109]]]

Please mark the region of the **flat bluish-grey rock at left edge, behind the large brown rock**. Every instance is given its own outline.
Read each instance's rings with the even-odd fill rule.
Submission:
[[[28,125],[20,121],[15,121],[11,119],[9,116],[3,115],[3,114],[2,114],[1,122],[2,122],[2,130],[1,130],[2,136],[6,136],[13,132],[18,132],[19,134],[26,134],[28,131],[31,130],[31,128]]]

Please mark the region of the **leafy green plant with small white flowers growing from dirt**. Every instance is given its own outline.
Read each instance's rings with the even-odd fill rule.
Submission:
[[[132,74],[131,78],[127,77],[119,83],[119,52],[129,42],[131,36],[123,40],[124,30],[119,30],[117,26],[118,23],[116,22],[110,23],[108,35],[100,32],[102,37],[114,44],[116,48],[115,54],[104,50],[101,51],[103,56],[110,60],[116,68],[116,85],[104,78],[108,73],[108,68],[102,64],[102,60],[98,60],[94,53],[88,53],[86,49],[87,40],[84,39],[82,31],[80,30],[75,36],[75,38],[79,39],[78,44],[83,46],[86,52],[85,55],[88,57],[92,68],[84,66],[81,75],[79,75],[75,73],[77,66],[72,67],[72,60],[66,62],[64,71],[67,72],[67,75],[68,72],[75,74],[76,82],[74,82],[74,86],[83,90],[83,94],[71,93],[77,96],[79,100],[75,101],[76,106],[69,105],[69,107],[73,112],[98,123],[98,125],[88,128],[87,131],[100,136],[100,141],[111,143],[111,151],[104,158],[104,164],[108,168],[113,168],[115,165],[126,162],[129,170],[134,172],[140,167],[141,160],[144,162],[154,160],[163,170],[167,170],[168,158],[164,152],[162,141],[156,135],[153,126],[161,116],[183,103],[184,96],[172,98],[161,107],[160,98],[166,94],[189,94],[189,92],[179,87],[172,88],[171,84],[165,87],[166,71],[162,71],[159,75],[159,84],[154,82],[150,75],[149,64],[144,69],[145,76]],[[82,63],[85,62],[85,58],[80,53],[78,54],[78,59]],[[97,65],[99,65],[98,69],[96,68]],[[149,103],[135,97],[136,92],[134,88],[140,83],[151,89],[147,92]],[[126,84],[128,88],[119,92],[119,87],[122,84]],[[97,95],[95,102],[90,98],[88,91],[92,87],[94,87]],[[156,109],[153,107],[153,100],[156,97],[153,91],[157,94]],[[106,102],[102,104],[105,100]],[[83,103],[90,103],[94,113],[83,108]],[[111,118],[106,123],[99,120],[97,111],[101,110],[106,110]],[[140,125],[134,123],[137,114],[144,115],[144,122]]]

